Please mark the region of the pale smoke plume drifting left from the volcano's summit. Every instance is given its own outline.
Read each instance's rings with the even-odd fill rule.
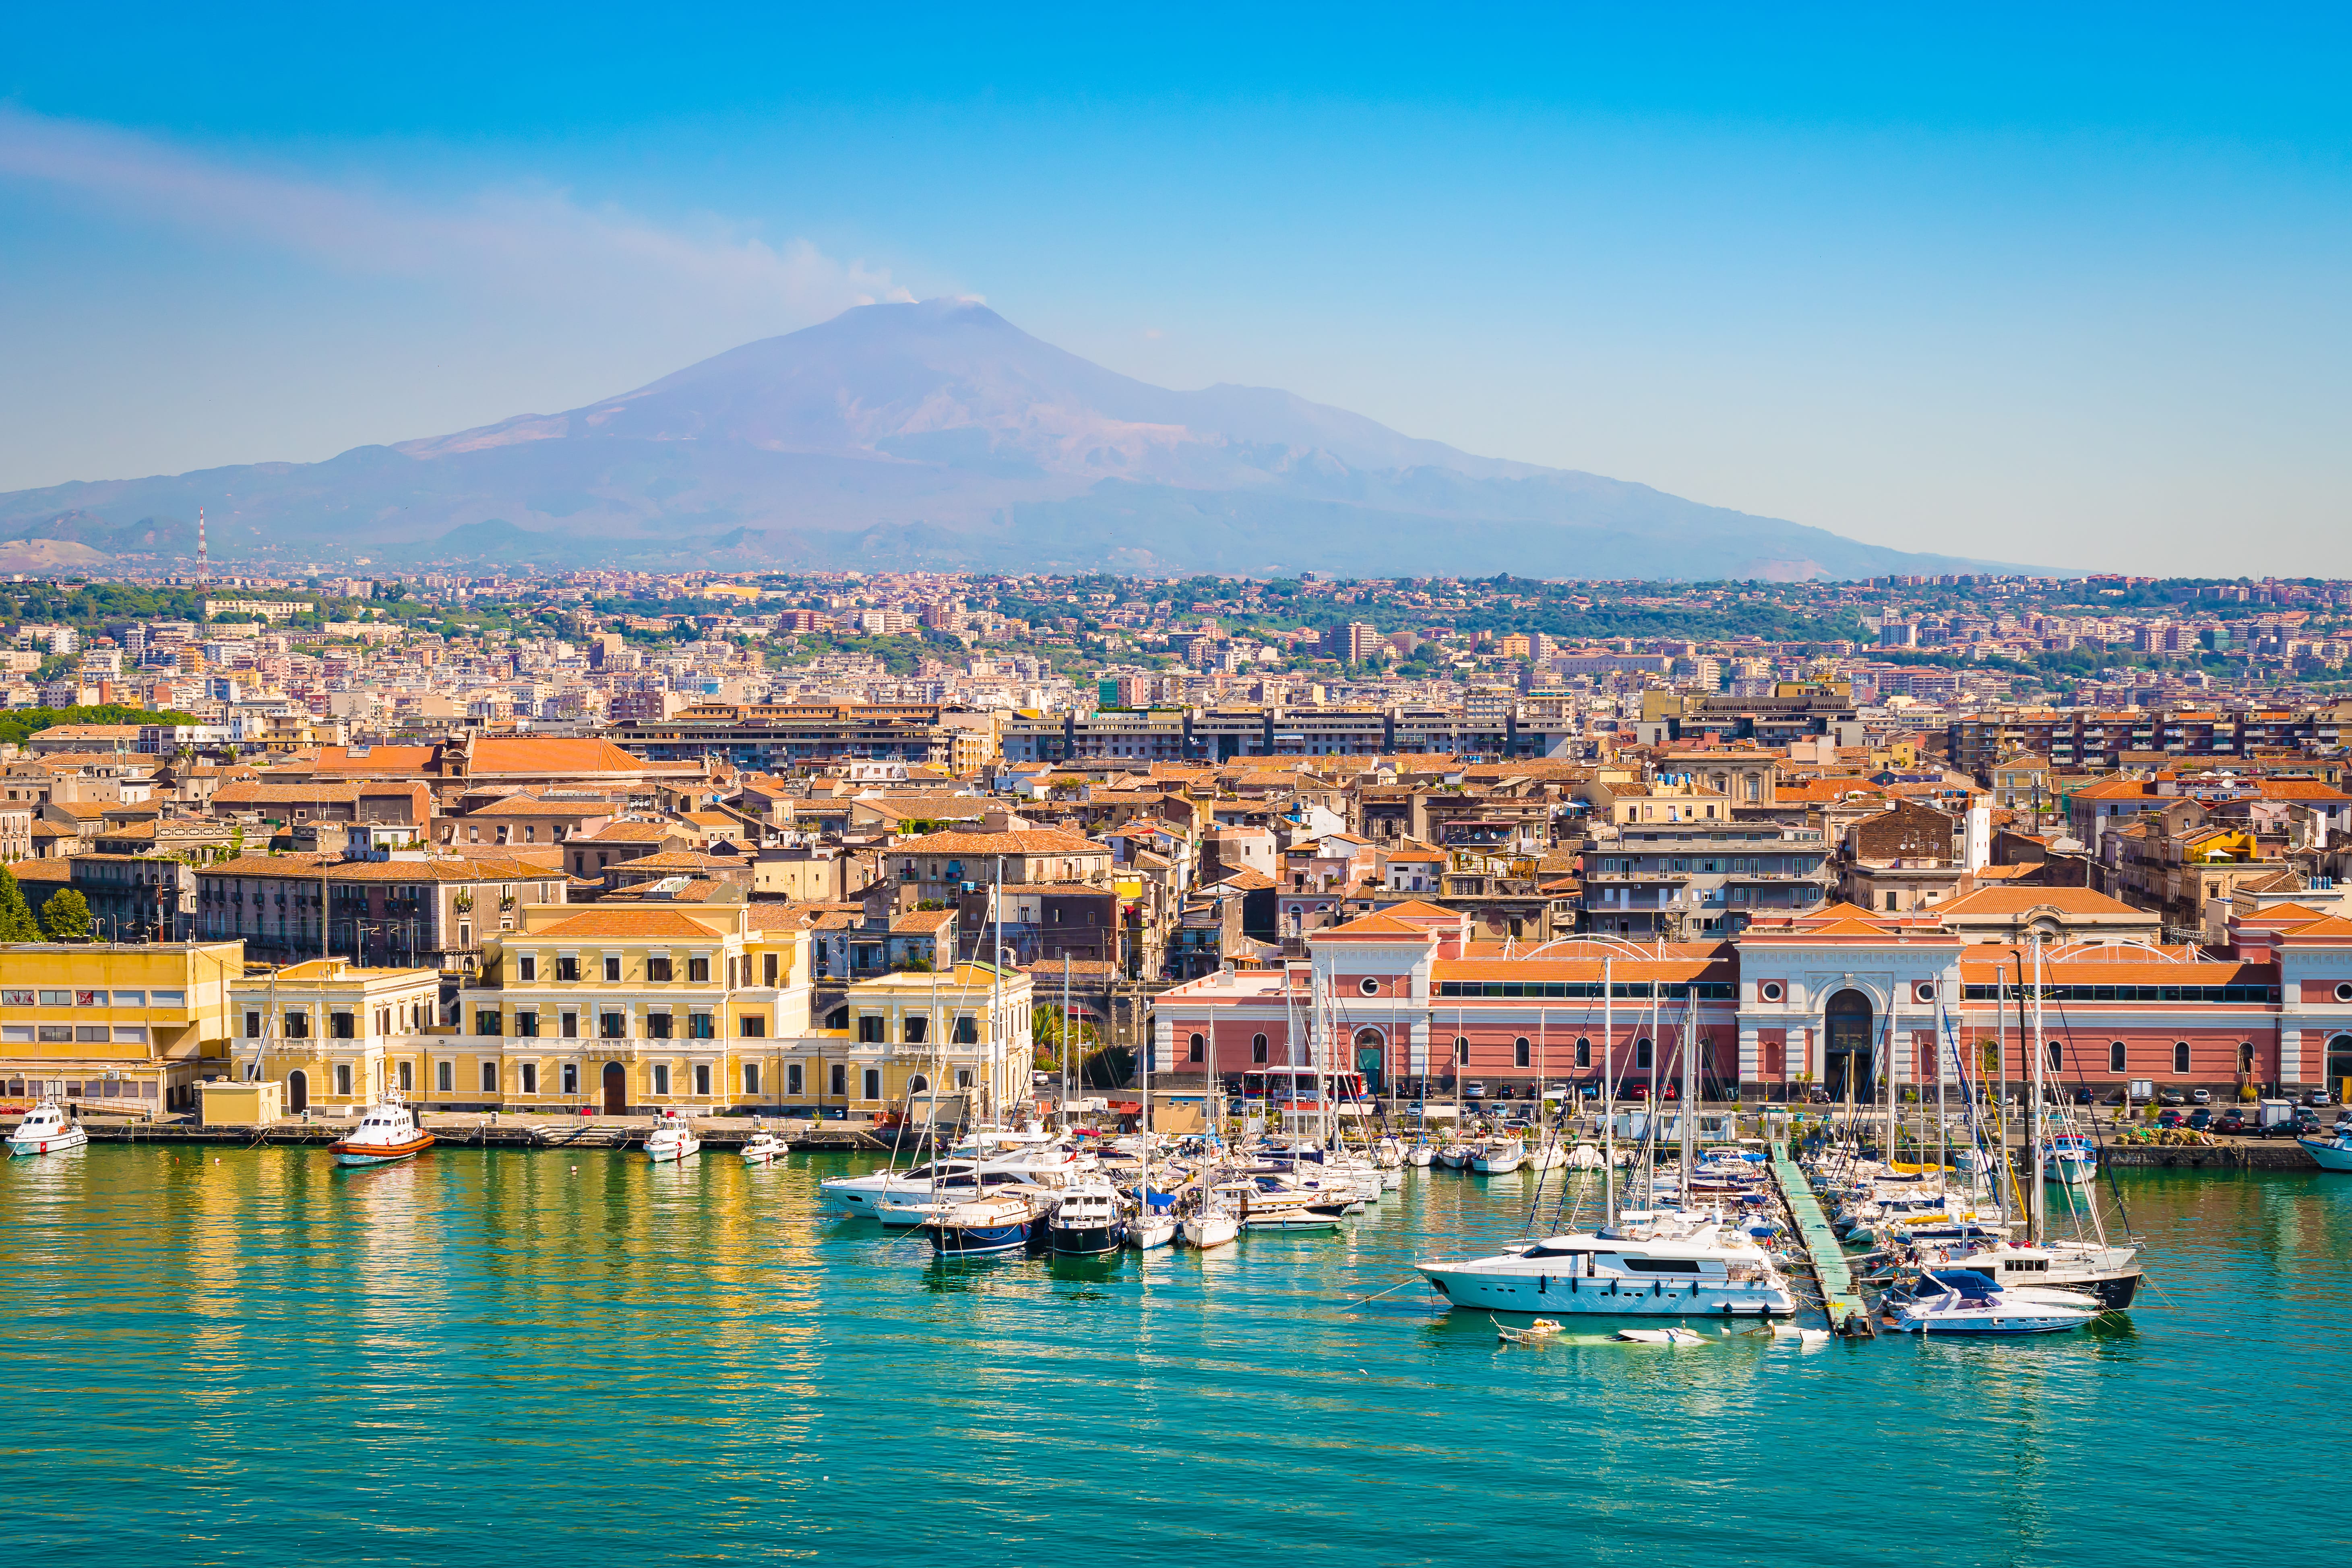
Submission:
[[[0,179],[71,190],[143,221],[261,242],[318,263],[470,287],[581,296],[691,296],[699,310],[800,327],[913,299],[887,270],[807,240],[771,244],[710,221],[663,228],[562,190],[485,190],[449,207],[235,167],[120,132],[0,108]]]

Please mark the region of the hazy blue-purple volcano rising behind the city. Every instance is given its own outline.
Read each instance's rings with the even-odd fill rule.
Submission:
[[[0,564],[1816,578],[1987,569],[1470,456],[1289,393],[1174,393],[955,299],[861,306],[567,414],[325,463],[0,496]]]

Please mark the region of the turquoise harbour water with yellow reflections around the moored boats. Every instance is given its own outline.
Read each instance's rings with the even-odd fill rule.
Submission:
[[[2124,1328],[1663,1352],[1498,1349],[1418,1284],[1348,1305],[1512,1234],[1526,1178],[1409,1173],[1338,1239],[936,1265],[818,1215],[863,1164],[14,1161],[0,1540],[270,1568],[2227,1563],[2333,1516],[2352,1180],[2129,1175],[2154,1276]]]

